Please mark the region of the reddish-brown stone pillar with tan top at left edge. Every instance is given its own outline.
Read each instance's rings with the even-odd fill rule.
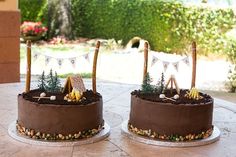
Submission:
[[[0,83],[20,80],[20,12],[16,0],[0,0]]]

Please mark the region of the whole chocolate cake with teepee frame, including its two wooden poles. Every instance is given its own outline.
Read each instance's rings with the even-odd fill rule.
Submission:
[[[192,44],[192,84],[179,89],[173,75],[157,85],[147,72],[148,43],[144,49],[144,75],[140,90],[131,92],[129,131],[156,140],[183,142],[205,139],[213,132],[213,98],[195,87],[196,43]],[[170,87],[169,87],[170,86]],[[174,88],[175,87],[175,88]]]

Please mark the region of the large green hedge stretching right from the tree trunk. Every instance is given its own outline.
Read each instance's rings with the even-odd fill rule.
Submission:
[[[148,40],[152,49],[183,52],[192,40],[202,53],[221,52],[224,33],[235,25],[231,9],[184,6],[161,0],[71,0],[77,36]]]

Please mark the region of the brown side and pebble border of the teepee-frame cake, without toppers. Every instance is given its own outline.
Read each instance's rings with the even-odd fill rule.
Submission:
[[[201,93],[203,99],[192,103],[181,99],[174,103],[158,96],[151,99],[152,96],[148,95],[146,99],[137,91],[131,94],[129,130],[144,136],[177,141],[211,135],[213,99],[209,95]]]

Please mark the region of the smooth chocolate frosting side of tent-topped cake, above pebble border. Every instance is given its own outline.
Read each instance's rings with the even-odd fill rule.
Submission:
[[[18,96],[18,123],[36,132],[74,134],[103,125],[103,101],[88,105],[38,104]]]

